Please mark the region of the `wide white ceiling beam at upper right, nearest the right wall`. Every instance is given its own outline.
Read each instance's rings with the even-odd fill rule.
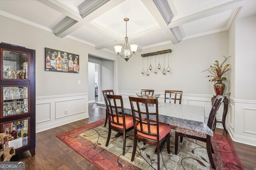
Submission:
[[[221,2],[222,2],[222,4],[218,4],[216,6],[213,5],[211,8],[199,10],[198,12],[195,12],[194,14],[190,14],[188,12],[188,14],[186,14],[186,15],[182,14],[183,15],[182,17],[180,17],[179,15],[174,16],[174,18],[172,19],[172,21],[170,22],[168,27],[170,29],[172,29],[173,27],[177,27],[177,26],[183,25],[185,23],[200,20],[202,18],[206,18],[208,16],[219,14],[221,12],[225,12],[225,11],[232,10],[234,8],[238,8],[238,7],[242,6],[242,4],[241,4],[242,0],[232,0],[232,1],[223,0]]]

